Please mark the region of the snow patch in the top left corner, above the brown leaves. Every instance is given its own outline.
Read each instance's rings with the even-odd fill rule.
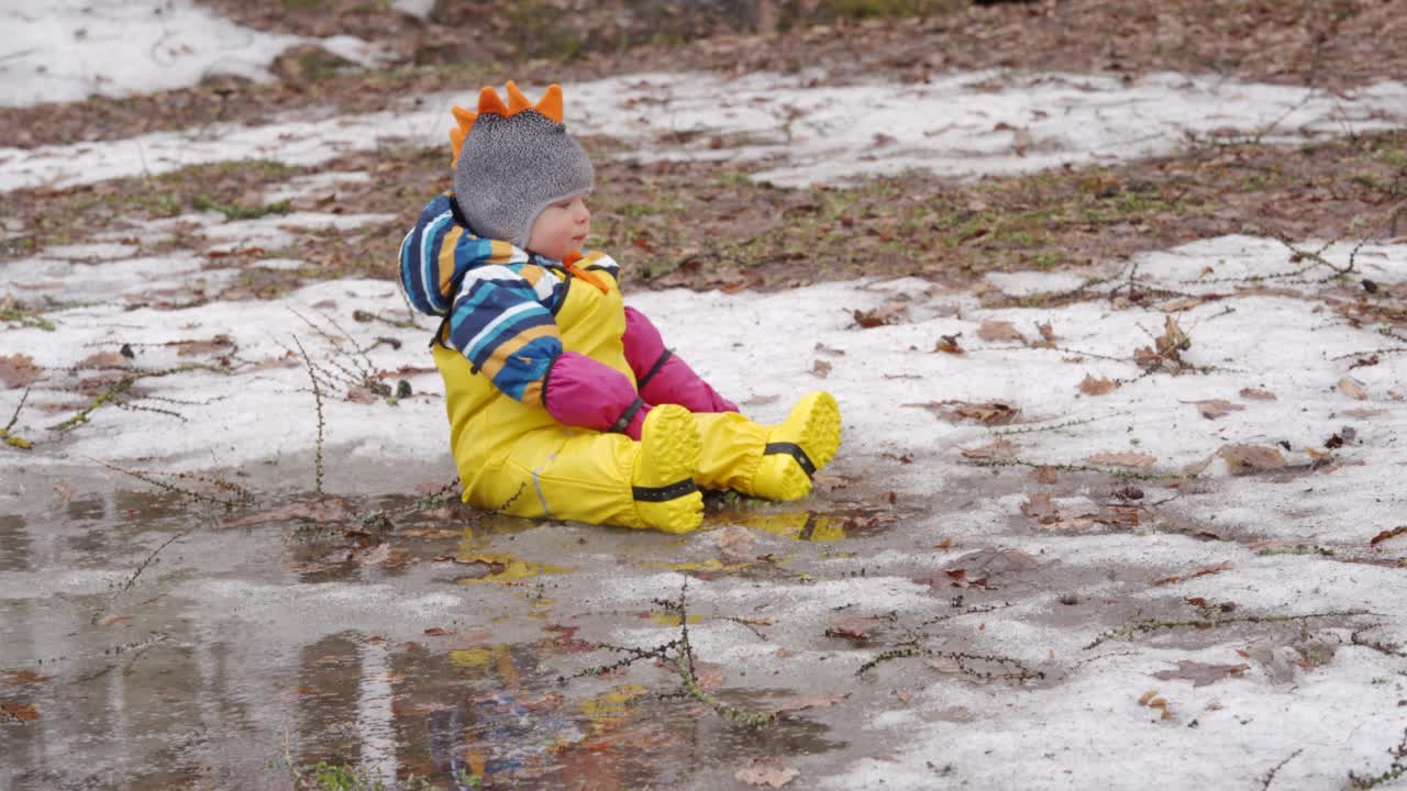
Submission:
[[[125,97],[187,87],[212,75],[269,79],[269,63],[315,41],[363,65],[377,61],[348,37],[308,39],[246,28],[190,0],[53,0],[42,8],[0,0],[0,106]]]

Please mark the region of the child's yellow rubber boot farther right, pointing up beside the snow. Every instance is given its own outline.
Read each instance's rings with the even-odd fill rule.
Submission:
[[[750,494],[799,500],[810,494],[810,476],[840,449],[840,405],[830,393],[808,393],[787,421],[772,429]]]

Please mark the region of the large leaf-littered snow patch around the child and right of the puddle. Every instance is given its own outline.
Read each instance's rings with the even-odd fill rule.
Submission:
[[[836,716],[848,721],[847,739],[884,747],[871,757],[850,753],[844,763],[834,756],[799,761],[803,773],[817,783],[829,778],[830,787],[872,787],[884,780],[885,787],[930,788],[953,778],[981,787],[1135,788],[1148,784],[1151,771],[1159,773],[1155,784],[1169,787],[1249,785],[1300,750],[1280,777],[1287,785],[1328,788],[1339,785],[1348,770],[1384,766],[1383,756],[1400,739],[1401,685],[1393,681],[1400,659],[1356,636],[1366,631],[1383,646],[1407,639],[1407,616],[1397,607],[1401,549],[1389,542],[1373,550],[1369,543],[1407,511],[1400,486],[1407,353],[1380,353],[1375,365],[1355,365],[1392,339],[1335,314],[1345,304],[1344,287],[1320,281],[1328,272],[1323,263],[1301,273],[1297,279],[1304,281],[1292,289],[1221,284],[1225,293],[1216,298],[1176,297],[1188,300],[1176,307],[1127,298],[1130,283],[1188,289],[1182,281],[1206,267],[1223,277],[1252,279],[1304,263],[1289,260],[1290,248],[1249,236],[1207,239],[1102,265],[1089,276],[1095,286],[1058,300],[1041,297],[1068,284],[1058,279],[991,279],[995,289],[1030,290],[1021,304],[1031,307],[989,307],[978,294],[916,279],[825,283],[779,294],[630,294],[628,301],[654,319],[678,355],[760,421],[781,419],[803,391],[834,393],[844,412],[844,445],[825,472],[836,481],[826,486],[836,488],[822,500],[843,498],[846,481],[857,481],[892,490],[905,508],[902,526],[892,532],[837,542],[833,556],[822,555],[826,576],[691,578],[691,612],[704,616],[691,626],[699,657],[722,663],[729,687],[791,683],[779,680],[796,678],[803,669],[812,690],[857,690]],[[1316,255],[1338,267],[1354,253],[1342,245],[1293,242],[1293,248],[1320,251]],[[191,266],[176,256],[121,258],[122,251],[121,245],[51,249],[4,274],[51,277],[72,289],[107,270],[113,280],[106,287],[139,294],[144,279],[155,287]],[[1368,262],[1373,277],[1400,283],[1407,245],[1363,245],[1355,266]],[[27,273],[44,266],[53,269]],[[855,325],[855,310],[895,303],[906,305],[895,324]],[[806,305],[805,332],[796,331],[798,304]],[[378,474],[390,474],[415,462],[419,470],[453,474],[439,376],[424,352],[432,322],[398,327],[405,308],[394,284],[340,280],[269,301],[165,311],[124,310],[106,300],[45,315],[58,325],[55,332],[4,331],[7,348],[23,349],[42,370],[13,426],[35,446],[24,455],[0,455],[0,510],[24,500],[17,487],[25,481],[44,481],[46,469],[72,469],[75,460],[165,473],[256,474],[270,464],[281,486],[310,488],[307,459],[318,442],[318,419],[294,339],[324,376],[329,472],[370,463]],[[1196,370],[1145,374],[1133,360],[1134,349],[1152,345],[1168,317],[1189,335],[1192,342],[1180,353]],[[1030,342],[985,341],[985,322],[1009,322]],[[1047,339],[1037,325],[1054,332],[1051,345],[1043,345]],[[964,353],[936,350],[944,335],[958,336]],[[124,345],[132,356],[117,370],[84,363]],[[817,359],[830,365],[825,376],[813,366]],[[767,377],[758,379],[758,370]],[[141,372],[167,374],[135,381],[128,391],[135,411],[106,405],[76,428],[49,428],[89,405],[108,383]],[[1362,383],[1361,398],[1338,384],[1346,374]],[[1107,377],[1117,387],[1083,391],[1088,376]],[[356,394],[350,380],[359,377],[388,384],[405,379],[412,396],[393,405]],[[1251,388],[1254,397],[1247,394]],[[21,393],[0,390],[0,415],[14,412]],[[1231,408],[1206,417],[1202,403],[1209,400]],[[989,425],[951,411],[993,403],[1020,412],[1006,425]],[[1233,474],[1237,470],[1218,456],[1230,445],[1273,449],[1283,466]],[[1014,456],[983,456],[993,446]],[[1078,518],[1040,525],[1024,512],[1040,491],[1052,495],[1057,510],[1088,512],[1107,505],[1110,488],[1126,481],[1096,474],[1045,487],[1026,467],[998,477],[975,466],[1006,459],[1119,469],[1100,455],[1123,455],[1131,464],[1123,469],[1151,476],[1127,481],[1141,488],[1130,508],[1147,505],[1144,521],[1134,526],[1081,525]],[[298,462],[280,466],[288,459]],[[1180,477],[1189,469],[1203,472],[1195,480]],[[377,487],[400,486],[362,476],[328,488],[374,494]],[[568,548],[588,540],[587,531],[604,555],[571,556]],[[235,532],[201,532],[198,540],[234,540]],[[612,645],[650,646],[673,638],[668,625],[651,625],[639,612],[656,608],[654,601],[678,590],[684,578],[622,557],[650,546],[671,562],[716,555],[706,536],[570,524],[516,539],[514,552],[526,559],[571,556],[581,564],[578,573],[553,577],[552,595],[609,624],[595,638]],[[758,550],[777,549],[770,535],[758,540]],[[874,552],[846,557],[850,546]],[[978,598],[981,588],[944,587],[944,569],[993,546],[1027,553],[1038,563],[1038,578],[999,578],[985,598]],[[269,553],[267,567],[279,566],[279,542],[260,552]],[[788,553],[799,550],[781,549],[772,557]],[[200,618],[222,624],[229,635],[276,626],[317,635],[363,629],[409,640],[424,639],[422,629],[450,614],[469,628],[492,607],[522,607],[515,598],[521,591],[497,586],[477,588],[473,612],[464,612],[460,588],[426,594],[412,581],[387,577],[294,588],[246,583],[221,573],[219,563],[225,557],[235,563],[234,553],[215,556],[221,562],[212,569],[182,576],[172,598],[191,602],[205,614]],[[597,562],[613,573],[592,573],[587,566]],[[788,566],[785,557],[777,563]],[[937,581],[929,581],[934,574]],[[30,587],[86,591],[113,578],[110,571],[18,576],[0,598],[30,601]],[[1079,607],[1059,601],[1067,590],[1079,591]],[[967,612],[954,604],[964,593],[992,607]],[[287,608],[286,595],[300,597],[297,611]],[[1137,639],[1112,633],[1140,618],[1189,618],[1197,601],[1233,604],[1231,615],[1248,616],[1370,615],[1292,619],[1279,628],[1169,629]],[[612,619],[602,612],[625,615]],[[768,639],[727,621],[729,614],[772,619]],[[919,629],[919,645],[934,652],[930,659],[961,649],[1009,657],[1045,676],[1021,685],[976,684],[941,662],[899,657],[857,681],[865,662],[896,645],[889,638],[936,615],[951,619]],[[895,635],[847,646],[826,636],[836,616],[878,618],[892,624]],[[509,619],[494,629],[530,633],[536,624]],[[777,646],[785,646],[785,654]],[[1154,676],[1185,660],[1238,670],[1204,687]],[[591,662],[598,659],[573,654],[553,671],[571,674]],[[1162,708],[1138,702],[1150,690],[1168,702],[1166,719]],[[1180,760],[1168,764],[1169,754]]]

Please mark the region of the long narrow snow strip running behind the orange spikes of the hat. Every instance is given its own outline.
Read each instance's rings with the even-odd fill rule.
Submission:
[[[1346,96],[1155,73],[1117,77],[961,72],[929,84],[817,86],[815,75],[633,75],[568,84],[578,135],[630,142],[635,159],[763,162],[782,186],[922,170],[971,179],[1172,153],[1196,139],[1299,142],[1407,125],[1407,84]],[[317,165],[387,138],[445,145],[452,104],[476,86],[407,100],[395,111],[262,127],[210,124],[129,139],[0,148],[0,190],[68,187],[187,165],[274,159]],[[529,86],[529,96],[540,87]],[[681,139],[689,142],[681,144]]]

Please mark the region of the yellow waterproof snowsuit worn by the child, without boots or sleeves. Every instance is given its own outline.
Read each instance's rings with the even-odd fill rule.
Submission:
[[[609,273],[592,274],[604,291],[581,279],[568,281],[557,311],[563,349],[605,363],[635,383],[620,342],[626,324],[619,284]],[[523,404],[494,387],[460,352],[439,343],[432,348],[445,377],[450,448],[464,502],[518,517],[644,526],[630,481],[639,442],[561,425],[546,407]],[[715,490],[746,487],[771,426],[737,412],[695,414],[695,419],[702,439],[695,483]]]

